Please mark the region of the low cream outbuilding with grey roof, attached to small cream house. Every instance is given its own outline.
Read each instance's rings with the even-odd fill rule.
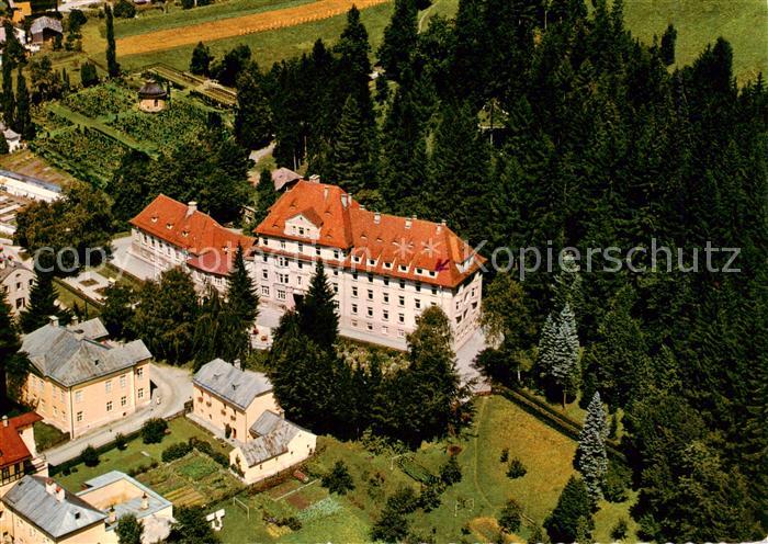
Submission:
[[[315,434],[270,410],[259,416],[249,432],[252,440],[229,452],[229,462],[242,471],[246,484],[301,463],[317,447]]]

